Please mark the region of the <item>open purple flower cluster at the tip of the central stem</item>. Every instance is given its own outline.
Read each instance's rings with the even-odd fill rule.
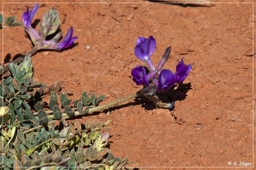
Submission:
[[[146,74],[145,68],[138,65],[132,69],[132,80],[136,85],[143,85],[144,87],[157,86],[158,92],[168,91],[175,83],[181,83],[188,76],[192,67],[191,64],[185,65],[182,58],[176,66],[175,73],[168,69],[162,70],[170,56],[171,47],[166,48],[159,64],[155,67],[150,60],[150,56],[155,51],[155,48],[156,40],[153,36],[148,38],[138,37],[134,53],[137,58],[147,63],[150,72]]]

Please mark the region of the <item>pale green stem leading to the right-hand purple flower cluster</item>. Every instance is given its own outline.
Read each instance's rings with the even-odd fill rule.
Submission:
[[[97,111],[97,110],[102,110],[102,109],[104,109],[104,108],[108,108],[108,107],[110,107],[110,106],[114,106],[114,105],[117,105],[117,104],[119,104],[119,103],[123,103],[123,102],[125,102],[125,101],[127,101],[127,100],[130,100],[130,99],[135,98],[135,97],[140,96],[140,95],[141,95],[141,92],[140,92],[140,90],[139,90],[138,92],[132,93],[132,94],[126,96],[126,97],[123,97],[123,98],[121,98],[121,99],[117,99],[117,100],[112,101],[112,102],[110,102],[110,103],[108,103],[108,104],[105,104],[105,105],[102,105],[102,106],[97,106],[97,107],[92,107],[92,108],[89,109],[89,112],[88,112],[88,113],[95,112],[95,111]],[[75,112],[75,116],[78,116],[78,115],[80,115],[80,113],[76,111],[76,112]],[[51,117],[50,117],[50,116],[51,116]],[[54,118],[53,115],[50,115],[50,116],[49,116],[48,118],[51,118],[51,119]],[[75,116],[73,116],[73,117],[75,117]],[[68,119],[68,118],[71,118],[71,117],[69,117],[67,114],[63,114],[61,120]],[[53,120],[53,121],[51,121],[51,122],[48,122],[48,124],[55,123],[55,122],[58,122],[58,121],[60,121],[60,120]],[[35,129],[42,128],[42,127],[44,127],[44,126],[43,126],[43,125],[39,125],[39,126],[37,126],[37,127],[28,129],[28,130],[24,131],[23,134],[26,134],[26,133],[28,133],[28,132],[31,132],[31,131],[33,131],[33,130],[35,130]]]

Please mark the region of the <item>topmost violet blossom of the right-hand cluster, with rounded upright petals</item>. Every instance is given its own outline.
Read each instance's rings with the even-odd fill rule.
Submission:
[[[148,60],[156,48],[156,39],[153,36],[148,38],[138,37],[134,54],[142,61]]]

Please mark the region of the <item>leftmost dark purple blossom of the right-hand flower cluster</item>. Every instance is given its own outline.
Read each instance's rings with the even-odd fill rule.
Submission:
[[[136,83],[136,85],[147,85],[148,86],[148,79],[147,74],[144,67],[140,67],[137,65],[134,69],[132,69],[132,81]]]

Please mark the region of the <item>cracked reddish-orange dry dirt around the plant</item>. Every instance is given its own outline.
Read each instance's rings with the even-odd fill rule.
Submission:
[[[22,21],[27,5],[34,6],[4,4],[4,15]],[[252,4],[43,3],[34,19],[52,6],[59,11],[61,31],[65,34],[73,26],[79,39],[62,52],[37,52],[34,77],[48,85],[61,81],[62,91],[73,92],[73,99],[84,90],[93,91],[107,95],[105,104],[138,91],[130,76],[132,68],[144,64],[133,53],[138,36],[156,38],[153,63],[172,46],[164,68],[175,71],[182,57],[192,64],[184,84],[161,96],[176,102],[172,111],[157,109],[141,97],[112,107],[110,115],[103,110],[76,119],[112,119],[108,127],[115,156],[128,156],[139,166],[252,162]],[[22,26],[3,31],[4,63],[31,49]]]

